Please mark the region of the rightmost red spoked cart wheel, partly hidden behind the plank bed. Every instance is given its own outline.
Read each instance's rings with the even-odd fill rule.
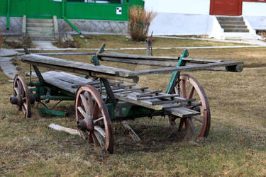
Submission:
[[[174,93],[178,93],[178,84],[174,87]],[[179,93],[182,98],[195,98],[196,101],[187,108],[200,111],[201,115],[181,118],[178,130],[190,129],[198,137],[207,137],[211,126],[211,110],[203,87],[194,77],[182,74],[179,78]]]

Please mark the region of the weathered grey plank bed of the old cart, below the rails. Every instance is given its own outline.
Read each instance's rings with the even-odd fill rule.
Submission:
[[[36,74],[33,74],[33,76],[36,76]],[[106,98],[106,91],[104,86],[101,87],[100,81],[92,81],[91,79],[85,79],[73,74],[54,71],[42,73],[42,76],[45,83],[69,91],[70,93],[76,93],[79,86],[92,85],[99,91],[101,90],[103,93],[102,97]],[[135,86],[135,84],[128,85],[121,81],[111,82],[110,86],[115,98],[119,101],[141,105],[153,110],[165,110],[167,113],[177,115],[180,118],[200,114],[195,110],[184,108],[177,104],[188,102],[196,104],[193,102],[193,99],[181,98],[177,95],[162,93],[162,91],[152,91],[148,87],[139,87]]]

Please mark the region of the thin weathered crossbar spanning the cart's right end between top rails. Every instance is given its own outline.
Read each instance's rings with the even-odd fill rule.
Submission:
[[[226,66],[233,66],[243,64],[243,62],[221,62],[221,63],[209,63],[209,64],[196,64],[191,66],[184,66],[184,67],[169,67],[169,68],[160,68],[160,69],[148,69],[148,70],[141,70],[137,72],[131,72],[128,76],[141,76],[141,75],[148,75],[148,74],[162,74],[162,73],[169,73],[169,72],[182,72],[182,71],[194,71],[194,70],[202,70],[207,68],[214,68],[214,67],[226,67]]]

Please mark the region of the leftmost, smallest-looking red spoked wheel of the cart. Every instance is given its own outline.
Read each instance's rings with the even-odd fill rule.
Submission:
[[[13,80],[13,98],[16,99],[18,110],[22,110],[25,118],[31,118],[31,101],[28,86],[21,74],[16,74]]]

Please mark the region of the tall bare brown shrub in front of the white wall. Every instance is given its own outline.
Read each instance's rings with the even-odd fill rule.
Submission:
[[[143,41],[147,38],[149,27],[156,13],[145,11],[143,6],[132,6],[128,10],[128,31],[133,40]]]

